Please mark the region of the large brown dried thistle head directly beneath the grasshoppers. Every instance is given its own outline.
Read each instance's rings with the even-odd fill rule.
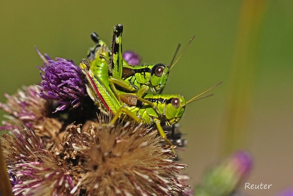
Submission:
[[[173,161],[173,153],[161,145],[156,130],[131,123],[90,124],[80,133],[71,127],[72,135],[64,141],[65,154],[75,152],[73,157],[84,170],[81,189],[87,195],[175,195],[188,187],[176,177],[186,165]]]

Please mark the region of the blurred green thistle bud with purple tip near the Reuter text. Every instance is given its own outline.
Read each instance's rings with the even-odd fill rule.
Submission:
[[[195,195],[230,195],[252,168],[249,153],[239,151],[224,159],[218,166],[211,169],[205,176],[201,186],[195,189]]]

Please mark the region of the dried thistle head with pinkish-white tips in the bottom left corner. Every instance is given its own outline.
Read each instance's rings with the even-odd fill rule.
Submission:
[[[11,133],[2,135],[1,144],[14,195],[70,195],[68,190],[74,184],[64,161],[46,149],[31,129],[13,129]]]

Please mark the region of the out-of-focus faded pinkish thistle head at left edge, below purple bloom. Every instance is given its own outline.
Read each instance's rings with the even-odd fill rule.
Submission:
[[[5,94],[7,104],[0,103],[0,108],[9,116],[6,115],[7,120],[3,121],[0,130],[17,129],[25,125],[38,136],[54,140],[62,122],[48,117],[51,109],[49,103],[38,95],[40,92],[36,86],[26,86],[15,95]]]

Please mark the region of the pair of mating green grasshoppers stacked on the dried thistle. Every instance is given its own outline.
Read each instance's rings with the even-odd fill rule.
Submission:
[[[181,94],[146,93],[149,88],[153,92],[162,90],[172,67],[163,63],[129,65],[122,58],[122,32],[121,24],[114,27],[111,51],[97,34],[92,34],[96,47],[90,49],[88,60],[83,59],[80,63],[86,78],[87,93],[102,113],[114,115],[111,123],[119,117],[130,117],[144,124],[155,123],[160,136],[175,153],[172,143],[166,138],[161,121],[165,121],[168,126],[177,123],[185,106],[205,92],[188,102]]]

